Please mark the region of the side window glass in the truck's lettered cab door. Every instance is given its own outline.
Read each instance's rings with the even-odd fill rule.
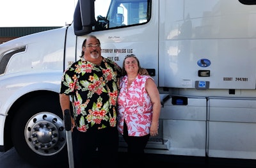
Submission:
[[[95,1],[95,31],[145,24],[150,20],[149,0]]]

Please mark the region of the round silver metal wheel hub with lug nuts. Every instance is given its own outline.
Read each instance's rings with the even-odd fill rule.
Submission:
[[[29,119],[25,128],[26,142],[39,155],[49,156],[61,151],[66,143],[61,118],[50,112],[40,112]]]

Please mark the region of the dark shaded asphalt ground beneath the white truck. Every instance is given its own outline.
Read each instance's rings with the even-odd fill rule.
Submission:
[[[196,168],[252,168],[256,167],[256,160],[243,160],[243,159],[226,159],[226,158],[205,158],[205,157],[184,157],[177,155],[156,155],[146,154],[143,164],[139,167],[196,167]],[[136,167],[131,165],[131,162],[127,160],[127,154],[120,152],[118,155],[118,165],[122,168]],[[29,165],[22,158],[19,157],[15,148],[6,152],[0,152],[0,168],[37,168],[33,165]],[[48,168],[48,167],[45,167]],[[96,168],[96,167],[94,167]]]

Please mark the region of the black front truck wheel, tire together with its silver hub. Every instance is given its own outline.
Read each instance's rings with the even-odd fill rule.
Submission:
[[[12,142],[20,157],[36,167],[68,167],[66,132],[58,96],[24,103],[12,123]]]

